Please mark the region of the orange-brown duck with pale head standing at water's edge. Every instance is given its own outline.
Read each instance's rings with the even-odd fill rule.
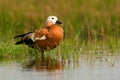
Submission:
[[[15,45],[25,44],[31,48],[39,48],[42,53],[52,50],[63,40],[64,30],[61,24],[56,16],[48,16],[45,27],[15,36],[14,39],[20,38]]]

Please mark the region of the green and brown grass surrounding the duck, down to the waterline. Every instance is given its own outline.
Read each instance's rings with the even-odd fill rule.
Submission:
[[[119,55],[119,4],[119,0],[1,0],[0,58],[26,58],[35,53],[27,46],[15,46],[13,37],[41,28],[49,15],[64,23],[65,38],[60,45],[64,59],[79,54]],[[57,48],[45,56],[57,58],[56,53]]]

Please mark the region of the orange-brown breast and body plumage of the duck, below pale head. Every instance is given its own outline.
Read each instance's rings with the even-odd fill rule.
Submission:
[[[35,32],[36,37],[46,36],[45,40],[36,40],[32,47],[40,47],[42,50],[50,50],[59,45],[63,39],[63,29],[60,26],[52,25],[44,29],[38,29]]]

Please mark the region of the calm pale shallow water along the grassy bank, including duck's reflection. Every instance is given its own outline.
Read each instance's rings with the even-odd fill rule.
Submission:
[[[79,60],[44,60],[23,66],[21,62],[1,62],[0,80],[119,80],[120,56],[81,56]]]

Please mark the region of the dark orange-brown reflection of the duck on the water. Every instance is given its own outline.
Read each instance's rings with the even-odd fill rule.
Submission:
[[[28,60],[25,64],[26,69],[33,69],[36,71],[47,70],[63,70],[63,63],[52,58],[35,57],[32,60]]]

